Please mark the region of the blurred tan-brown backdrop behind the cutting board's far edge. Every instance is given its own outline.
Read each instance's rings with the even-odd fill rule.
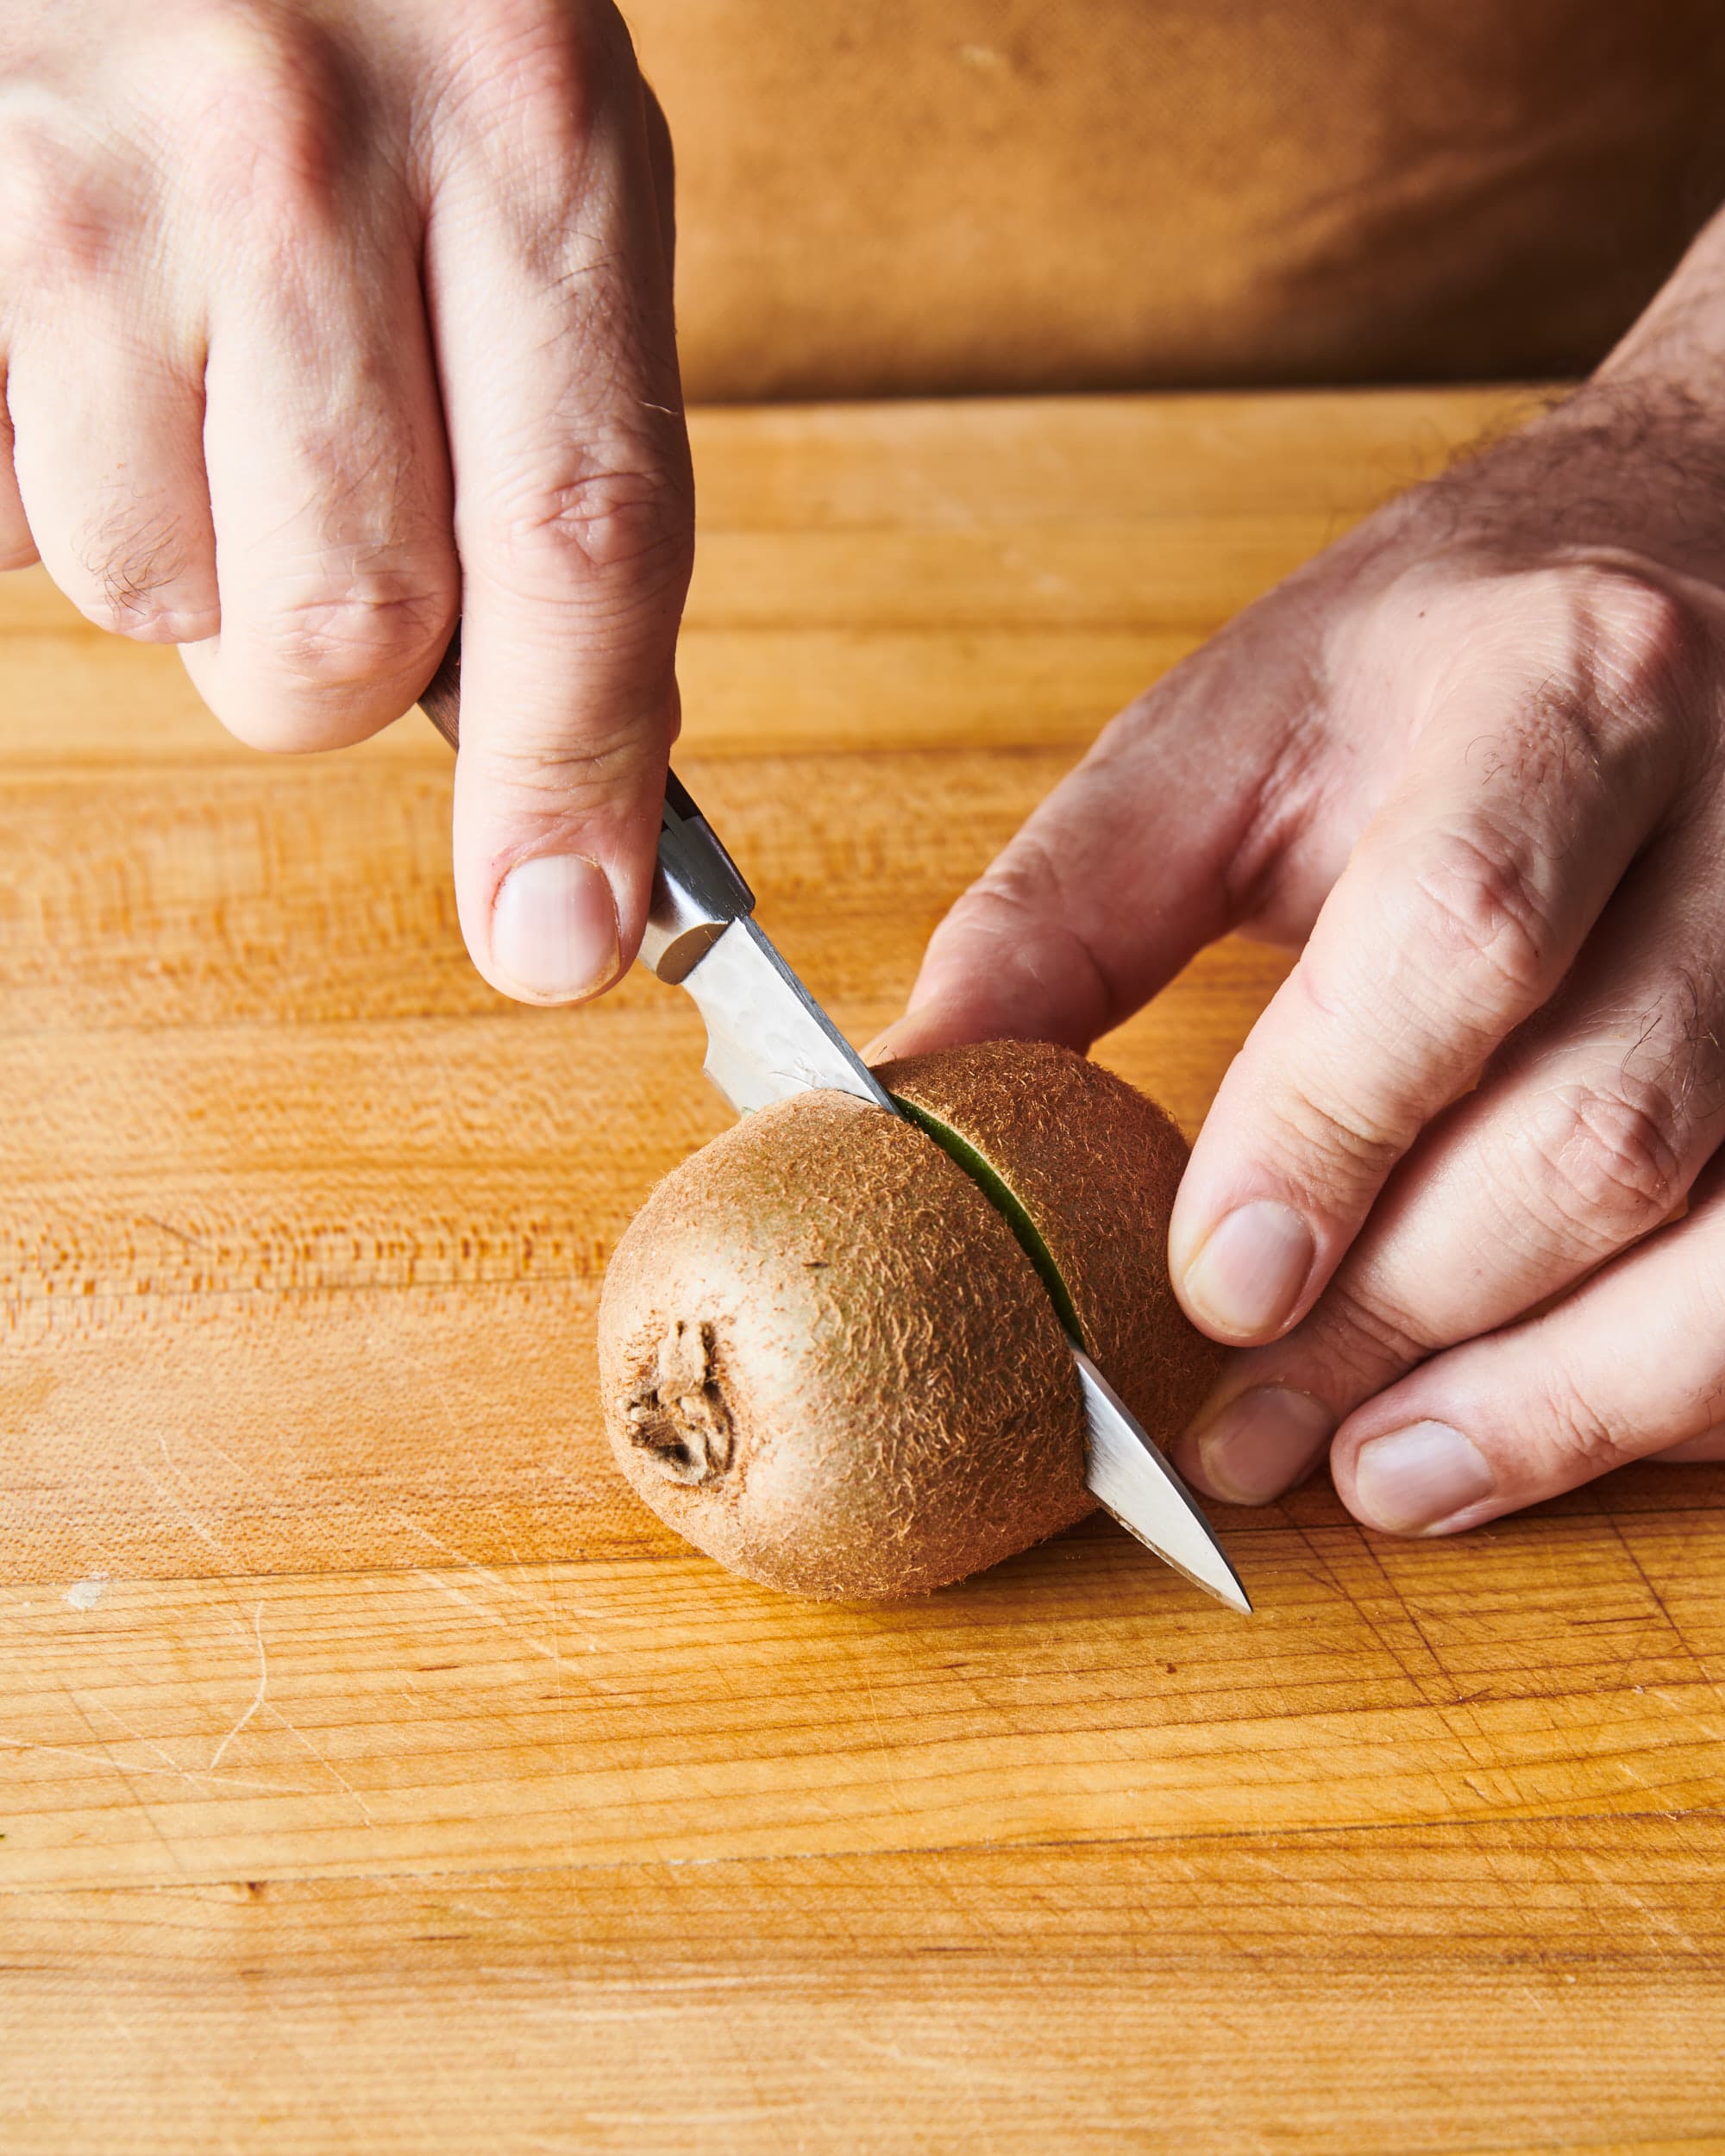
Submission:
[[[1581,371],[1725,196],[1712,0],[623,0],[699,399]]]

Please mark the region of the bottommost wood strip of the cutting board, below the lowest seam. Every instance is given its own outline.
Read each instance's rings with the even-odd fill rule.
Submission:
[[[1719,2145],[1706,1818],[19,1899],[78,2147]]]

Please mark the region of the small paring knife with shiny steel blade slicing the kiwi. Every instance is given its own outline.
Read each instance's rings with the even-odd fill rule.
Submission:
[[[420,707],[455,748],[459,640]],[[815,1087],[854,1093],[899,1115],[893,1095],[761,934],[755,893],[675,772],[664,783],[660,860],[640,959],[660,981],[694,996],[707,1024],[707,1076],[737,1115]],[[1248,1615],[1246,1589],[1186,1483],[1078,1341],[1072,1341],[1072,1360],[1085,1399],[1091,1494],[1195,1587]]]

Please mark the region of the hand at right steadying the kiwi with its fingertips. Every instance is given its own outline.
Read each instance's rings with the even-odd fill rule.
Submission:
[[[1449,1533],[1725,1457],[1725,392],[1673,386],[1693,328],[1656,310],[1115,720],[884,1037],[1082,1048],[1225,929],[1302,944],[1169,1238],[1240,1348],[1177,1451],[1216,1496],[1328,1445],[1363,1522]]]

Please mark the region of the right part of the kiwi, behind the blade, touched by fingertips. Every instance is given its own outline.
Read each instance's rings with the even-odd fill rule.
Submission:
[[[1082,1345],[1167,1447],[1223,1358],[1169,1281],[1169,1216],[1188,1156],[1175,1121],[1100,1063],[1048,1041],[947,1048],[875,1076],[1007,1184],[1065,1283]]]

